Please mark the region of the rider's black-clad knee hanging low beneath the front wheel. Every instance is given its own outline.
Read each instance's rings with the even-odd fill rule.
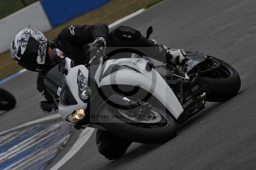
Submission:
[[[119,138],[105,130],[97,130],[96,144],[99,153],[108,160],[113,160],[125,154],[127,148],[131,145],[131,141]]]

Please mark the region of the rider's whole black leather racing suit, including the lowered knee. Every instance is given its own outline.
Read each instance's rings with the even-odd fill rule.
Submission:
[[[123,37],[123,35],[127,35],[127,38]],[[76,63],[83,63],[83,61],[87,59],[87,50],[90,48],[87,44],[92,43],[98,37],[103,37],[107,42],[107,46],[156,47],[153,54],[159,54],[159,49],[163,47],[154,40],[146,39],[139,31],[131,27],[119,27],[109,34],[108,25],[104,23],[96,23],[92,26],[67,26],[58,33],[57,37],[49,41],[49,47],[52,49],[61,49],[65,55],[74,60],[76,65]],[[111,40],[109,40],[109,37]],[[48,101],[53,102],[52,96],[44,87],[44,76],[52,67],[53,66],[46,66],[43,72],[38,73],[37,89]],[[108,159],[115,159],[125,153],[131,141],[126,141],[107,131],[98,130],[96,134],[96,144],[102,155]]]

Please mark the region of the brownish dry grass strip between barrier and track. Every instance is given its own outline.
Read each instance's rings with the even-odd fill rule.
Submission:
[[[7,0],[6,0],[7,1]],[[32,0],[31,0],[32,1]],[[148,8],[160,0],[111,0],[103,6],[90,12],[75,17],[60,26],[45,33],[49,40],[53,39],[64,26],[74,24],[91,25],[97,22],[111,24],[114,21],[125,17],[141,8]],[[14,35],[15,36],[15,35]],[[15,61],[12,60],[10,52],[0,54],[0,78],[6,77],[22,69]]]

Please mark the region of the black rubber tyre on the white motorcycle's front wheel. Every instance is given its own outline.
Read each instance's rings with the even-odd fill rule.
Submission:
[[[111,111],[108,106],[103,106],[99,113],[104,113],[105,115],[110,116],[108,116],[107,119],[99,119],[99,122],[109,132],[128,141],[144,144],[160,144],[169,141],[177,134],[177,124],[175,120],[171,115],[161,109],[156,107],[152,107],[152,109],[160,115],[166,115],[165,118],[168,123],[166,123],[167,125],[165,127],[160,129],[147,129],[124,123],[123,121],[111,116]]]

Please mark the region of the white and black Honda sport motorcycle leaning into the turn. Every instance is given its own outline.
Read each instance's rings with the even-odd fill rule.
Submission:
[[[108,130],[140,143],[166,142],[176,135],[177,124],[204,109],[206,101],[227,101],[241,86],[230,64],[199,52],[186,54],[185,66],[157,65],[136,52],[131,58],[101,57],[95,65],[94,58],[78,66],[64,58],[44,78],[55,104],[41,102],[41,109],[58,109],[77,129]],[[53,56],[63,54],[54,49]]]

